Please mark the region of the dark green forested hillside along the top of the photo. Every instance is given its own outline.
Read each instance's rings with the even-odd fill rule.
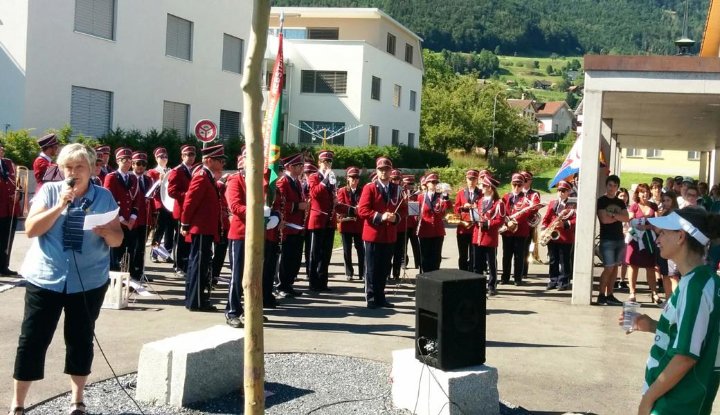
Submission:
[[[691,38],[702,36],[709,0],[690,0]],[[671,55],[684,0],[277,0],[274,6],[378,7],[431,50],[538,55]]]

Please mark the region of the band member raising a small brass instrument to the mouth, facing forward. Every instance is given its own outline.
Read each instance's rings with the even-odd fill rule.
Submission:
[[[328,265],[333,254],[336,217],[336,181],[333,174],[333,157],[330,150],[320,150],[318,173],[307,178],[310,188],[310,221],[307,229],[310,240],[310,291],[332,291],[328,287]]]

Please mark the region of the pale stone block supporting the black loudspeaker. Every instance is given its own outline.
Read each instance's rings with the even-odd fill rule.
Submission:
[[[392,352],[390,375],[392,403],[398,408],[418,415],[500,414],[496,368],[480,365],[445,372],[424,365],[415,359],[415,350],[405,349]]]

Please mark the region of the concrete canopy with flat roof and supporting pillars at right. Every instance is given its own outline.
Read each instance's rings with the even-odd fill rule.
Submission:
[[[595,201],[605,193],[600,151],[612,174],[622,147],[701,152],[699,176],[720,182],[720,58],[585,56],[573,304],[590,304]]]

